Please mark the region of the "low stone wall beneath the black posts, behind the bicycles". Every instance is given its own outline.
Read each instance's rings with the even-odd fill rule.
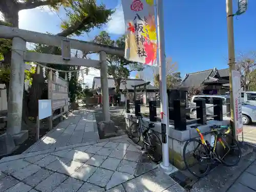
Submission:
[[[126,129],[129,131],[129,127],[132,125],[132,121],[136,122],[135,114],[131,113],[125,113],[125,121],[126,121]],[[142,119],[143,124],[145,126],[148,125],[148,122],[150,122],[149,118],[143,118]],[[154,122],[155,127],[152,129],[154,132],[159,136],[161,139],[161,122]],[[209,120],[207,121],[207,125],[199,125],[198,128],[201,131],[202,134],[210,131],[210,125],[228,125],[229,120],[223,120],[223,121],[216,121],[216,120]],[[174,125],[169,125],[169,133],[168,133],[168,146],[169,146],[169,161],[174,166],[176,166],[179,169],[184,169],[185,164],[183,161],[183,147],[187,140],[190,138],[197,138],[198,133],[195,129],[191,129],[190,124],[187,125],[186,131],[178,131],[174,129]],[[207,134],[204,136],[205,140],[208,140],[210,142],[210,137],[212,134]]]

